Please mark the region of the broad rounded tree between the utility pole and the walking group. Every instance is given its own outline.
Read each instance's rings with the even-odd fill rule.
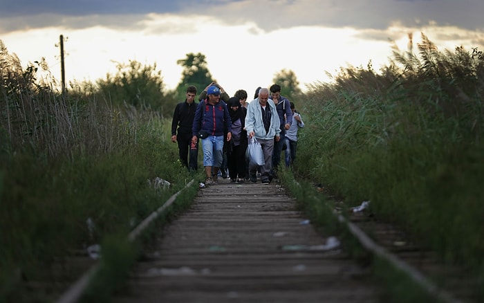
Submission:
[[[100,91],[109,96],[113,104],[127,102],[134,107],[162,108],[164,84],[156,64],[143,66],[130,60],[129,64],[118,63],[117,68],[115,75],[108,73],[105,79],[97,80]]]

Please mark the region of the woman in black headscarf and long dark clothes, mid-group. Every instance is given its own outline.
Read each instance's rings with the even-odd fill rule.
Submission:
[[[245,127],[245,115],[247,109],[241,106],[238,97],[232,97],[227,102],[230,120],[232,121],[232,140],[227,149],[227,164],[230,182],[243,182],[247,164],[245,162],[245,150],[247,149],[247,131]]]

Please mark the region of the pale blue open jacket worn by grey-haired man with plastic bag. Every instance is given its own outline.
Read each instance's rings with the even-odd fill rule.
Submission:
[[[259,103],[259,98],[252,100],[247,106],[247,116],[245,116],[245,130],[249,134],[254,131],[257,139],[273,139],[274,136],[280,136],[281,128],[279,122],[279,115],[277,115],[276,104],[274,101],[268,100],[267,106],[270,108],[270,127],[266,134],[266,128],[262,122],[262,109]]]

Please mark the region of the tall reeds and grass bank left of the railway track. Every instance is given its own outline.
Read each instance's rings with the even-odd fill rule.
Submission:
[[[72,282],[58,274],[69,257],[94,244],[122,247],[112,239],[193,176],[158,111],[59,93],[47,66],[21,68],[1,43],[0,71],[0,302],[51,302]],[[171,184],[156,187],[157,177]]]

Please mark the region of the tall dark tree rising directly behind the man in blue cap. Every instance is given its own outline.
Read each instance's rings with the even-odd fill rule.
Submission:
[[[213,80],[202,53],[188,53],[185,59],[179,59],[176,63],[183,66],[182,77],[176,87],[176,97],[179,100],[185,100],[187,86],[194,85],[200,92]]]

